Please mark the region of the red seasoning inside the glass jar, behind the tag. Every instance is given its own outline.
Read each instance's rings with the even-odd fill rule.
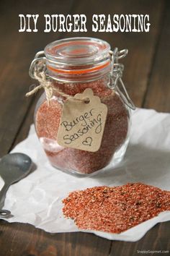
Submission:
[[[120,97],[107,88],[107,82],[108,76],[93,82],[74,84],[53,82],[54,87],[71,96],[91,88],[94,95],[99,96],[102,103],[107,105],[107,121],[101,147],[97,152],[63,148],[58,145],[56,138],[63,108],[61,103],[63,98],[60,95],[54,95],[50,106],[44,101],[37,108],[35,114],[37,136],[42,142],[50,163],[56,168],[91,174],[107,166],[116,150],[125,142],[128,135],[129,114]]]

